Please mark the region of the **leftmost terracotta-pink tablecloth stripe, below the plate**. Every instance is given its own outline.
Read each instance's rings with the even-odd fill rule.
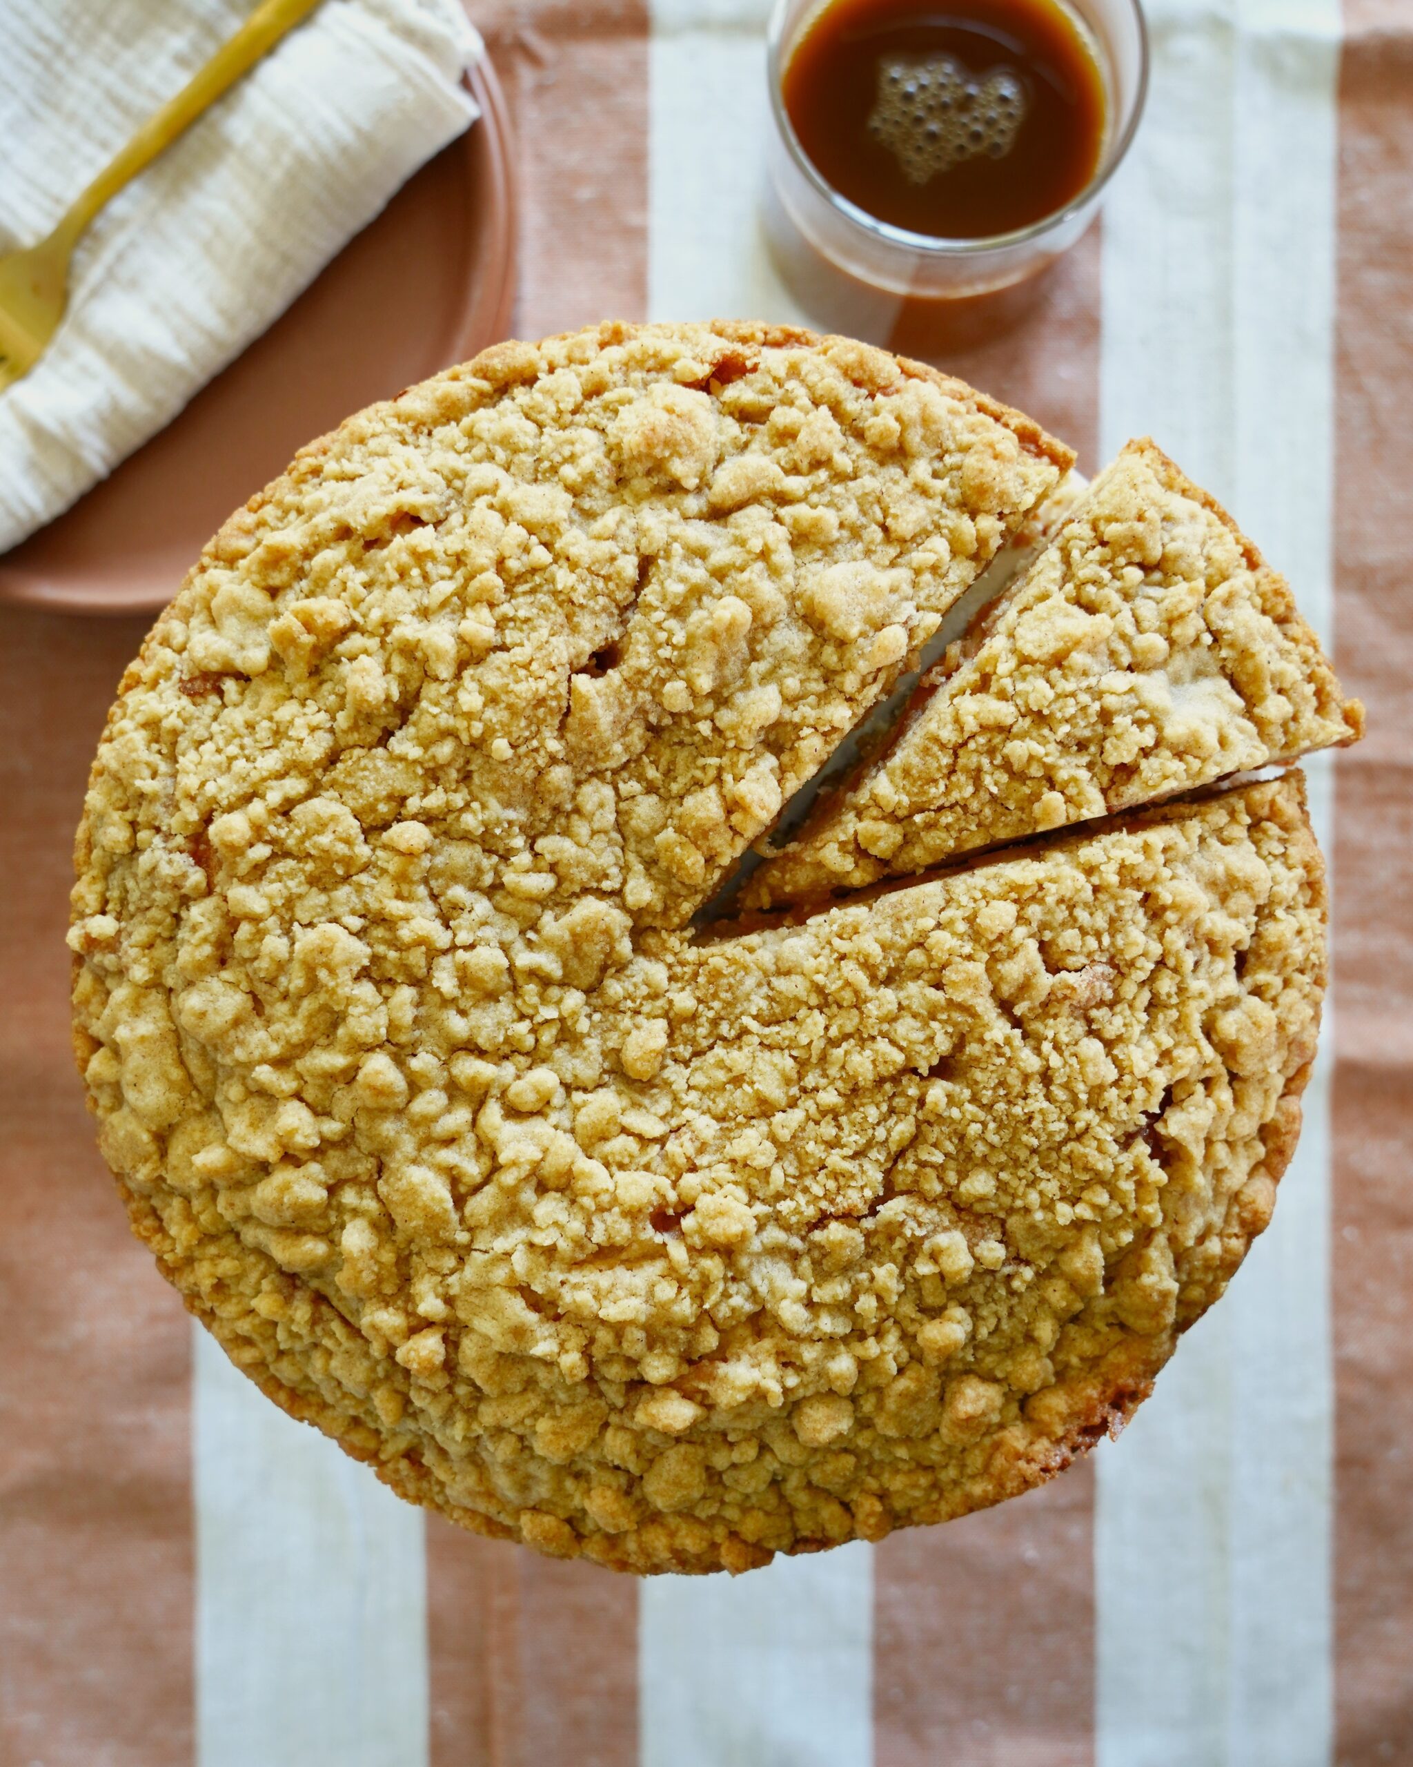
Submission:
[[[69,1043],[74,827],[141,629],[0,611],[0,1760],[193,1760],[191,1325]]]

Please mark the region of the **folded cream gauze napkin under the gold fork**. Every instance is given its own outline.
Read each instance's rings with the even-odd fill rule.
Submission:
[[[83,186],[254,0],[0,0],[0,251]],[[276,320],[477,115],[459,0],[323,0],[102,210],[49,348],[0,392],[0,551]]]

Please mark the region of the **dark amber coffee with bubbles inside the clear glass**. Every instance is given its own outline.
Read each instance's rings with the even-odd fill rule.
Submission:
[[[1090,184],[1104,76],[1058,0],[834,0],[781,95],[805,155],[878,221],[989,239]]]

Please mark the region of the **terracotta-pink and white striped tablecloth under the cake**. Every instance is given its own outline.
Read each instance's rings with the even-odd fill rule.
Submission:
[[[797,313],[763,0],[486,0],[519,330]],[[1335,988],[1275,1223],[1122,1442],[738,1581],[454,1532],[286,1421],[127,1237],[71,1071],[88,756],[134,624],[0,615],[4,1767],[1413,1762],[1413,4],[1150,0],[1146,125],[1019,332],[947,366],[1093,468],[1152,431],[1298,588]],[[0,177],[4,171],[0,170]]]

